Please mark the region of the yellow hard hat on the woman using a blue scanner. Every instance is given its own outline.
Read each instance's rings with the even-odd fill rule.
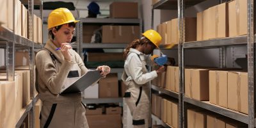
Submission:
[[[149,29],[149,30],[145,31],[144,33],[142,33],[142,35],[147,37],[148,40],[150,40],[158,48],[158,46],[161,43],[162,37],[161,37],[161,35],[159,35],[159,33],[157,33],[157,31],[155,31],[153,29]]]

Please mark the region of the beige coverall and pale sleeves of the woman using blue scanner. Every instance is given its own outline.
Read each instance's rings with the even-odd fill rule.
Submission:
[[[148,56],[136,49],[130,49],[124,65],[122,80],[127,85],[125,102],[132,115],[134,128],[144,128],[150,124],[149,81],[157,77],[156,71],[147,72]]]

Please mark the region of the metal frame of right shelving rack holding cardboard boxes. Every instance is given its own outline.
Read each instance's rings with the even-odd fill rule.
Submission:
[[[177,6],[173,6],[173,4]],[[198,1],[202,2],[202,1]],[[223,1],[219,1],[220,3]],[[179,125],[180,127],[187,126],[187,116],[186,116],[186,106],[187,104],[193,104],[194,106],[198,106],[200,108],[207,109],[209,111],[213,111],[223,116],[227,116],[229,118],[233,118],[234,120],[243,122],[248,124],[248,127],[253,128],[256,126],[255,120],[255,20],[254,20],[254,13],[255,13],[255,1],[248,0],[248,35],[247,36],[237,36],[234,38],[217,38],[212,40],[204,40],[204,41],[196,41],[196,42],[184,42],[184,24],[182,19],[184,18],[184,5],[191,6],[193,4],[188,4],[189,1],[184,0],[161,0],[158,3],[152,6],[152,19],[154,19],[154,9],[168,9],[178,10],[178,26],[179,26],[179,86],[180,86],[180,93],[179,93]],[[171,5],[172,4],[172,5]],[[152,20],[152,28],[154,22]],[[185,23],[186,24],[186,23]],[[237,46],[237,45],[247,45],[247,52],[248,52],[248,109],[249,114],[244,115],[243,113],[239,113],[237,111],[232,111],[227,108],[222,108],[220,106],[215,106],[214,104],[210,104],[207,101],[198,101],[186,97],[184,95],[184,50],[185,49],[205,49],[205,48],[220,48],[220,67],[226,67],[226,51],[227,47],[230,46]],[[166,92],[163,88],[158,88],[156,86],[152,86],[153,90],[157,90],[159,92],[163,92],[166,95],[173,97],[172,93]],[[175,96],[174,98],[177,98]],[[152,115],[153,117],[153,115]]]

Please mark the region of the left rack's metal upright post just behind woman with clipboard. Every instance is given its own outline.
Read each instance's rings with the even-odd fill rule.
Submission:
[[[33,29],[33,24],[34,24],[34,0],[28,0],[28,14],[29,14],[29,39],[34,40],[34,29]],[[35,101],[33,100],[35,98],[35,92],[34,92],[34,56],[35,56],[35,53],[34,53],[34,44],[35,42],[33,42],[31,44],[31,46],[29,46],[29,72],[30,72],[30,94],[31,94],[31,97],[30,99],[32,99],[32,108],[31,108],[31,111],[29,112],[29,126],[30,127],[35,127]]]

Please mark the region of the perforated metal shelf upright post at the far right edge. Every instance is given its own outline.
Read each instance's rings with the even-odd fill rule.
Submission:
[[[254,0],[248,0],[248,35],[247,35],[247,52],[248,52],[248,127],[255,126],[255,21],[254,21]]]

